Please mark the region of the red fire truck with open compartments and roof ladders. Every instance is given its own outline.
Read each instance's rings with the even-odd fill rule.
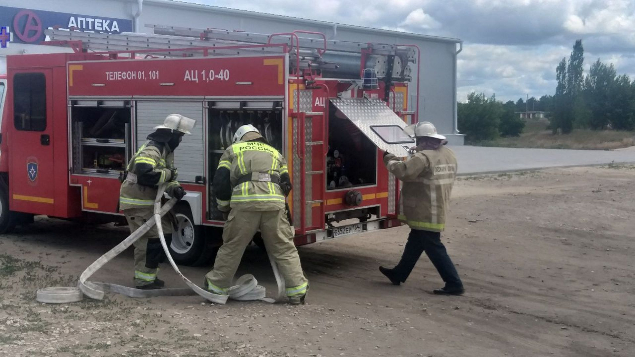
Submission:
[[[74,53],[9,56],[0,77],[2,232],[34,215],[121,223],[119,173],[173,112],[197,120],[175,152],[187,191],[170,245],[180,264],[206,264],[222,243],[211,178],[248,123],[289,161],[296,245],[399,224],[381,152],[413,145],[402,129],[416,115],[415,47],[302,31],[47,31]]]

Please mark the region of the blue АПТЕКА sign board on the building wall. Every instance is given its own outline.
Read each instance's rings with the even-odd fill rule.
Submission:
[[[0,6],[0,27],[11,28],[13,43],[36,44],[50,27],[119,34],[132,31],[132,20]]]

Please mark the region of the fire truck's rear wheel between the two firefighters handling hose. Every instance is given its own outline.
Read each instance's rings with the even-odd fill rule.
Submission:
[[[184,266],[206,266],[216,257],[217,248],[203,226],[197,226],[192,219],[192,211],[187,204],[174,208],[177,227],[170,241],[170,255],[177,264]]]

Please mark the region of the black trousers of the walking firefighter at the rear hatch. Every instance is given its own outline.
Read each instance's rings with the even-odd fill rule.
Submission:
[[[423,252],[436,267],[441,279],[445,281],[446,287],[463,286],[461,278],[458,277],[457,269],[445,250],[445,245],[441,243],[441,233],[421,231],[419,229],[410,230],[408,243],[404,247],[401,260],[392,269],[402,283],[406,281]]]

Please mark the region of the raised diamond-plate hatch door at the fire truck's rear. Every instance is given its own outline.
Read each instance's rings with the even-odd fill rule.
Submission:
[[[379,149],[388,151],[401,158],[408,156],[408,149],[414,145],[414,140],[403,144],[388,144],[371,129],[374,125],[394,125],[405,128],[397,114],[392,112],[382,100],[370,98],[336,98],[331,102],[340,109],[359,130]]]

